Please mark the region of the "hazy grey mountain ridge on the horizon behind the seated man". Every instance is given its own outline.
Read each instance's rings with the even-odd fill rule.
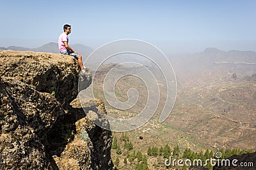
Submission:
[[[90,46],[85,46],[81,44],[70,45],[78,53],[83,56],[88,56],[93,52]],[[0,47],[0,50],[15,50],[15,51],[32,51],[32,52],[50,52],[50,53],[60,53],[58,48],[58,43],[47,43],[45,45],[39,46],[38,48],[24,48],[20,46],[9,46],[8,48]]]

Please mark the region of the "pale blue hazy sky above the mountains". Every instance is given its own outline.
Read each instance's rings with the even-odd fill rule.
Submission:
[[[256,1],[1,1],[0,46],[58,42],[97,48],[117,39],[148,41],[163,52],[256,51]]]

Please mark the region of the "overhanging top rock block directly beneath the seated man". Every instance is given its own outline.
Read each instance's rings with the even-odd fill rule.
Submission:
[[[0,76],[13,77],[38,92],[54,94],[63,106],[69,106],[77,97],[79,66],[74,57],[0,50],[0,63]],[[91,81],[88,76],[84,84],[88,87]]]

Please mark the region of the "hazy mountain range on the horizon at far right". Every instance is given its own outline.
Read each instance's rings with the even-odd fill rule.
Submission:
[[[206,48],[204,52],[169,58],[176,74],[186,79],[199,73],[237,73],[249,76],[256,73],[256,52]],[[224,73],[223,72],[223,73]]]

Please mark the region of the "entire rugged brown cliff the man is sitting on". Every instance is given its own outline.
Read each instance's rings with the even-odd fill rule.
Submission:
[[[113,169],[111,132],[86,116],[108,125],[104,104],[83,99],[84,112],[78,79],[92,76],[74,57],[0,50],[0,63],[0,169]]]

